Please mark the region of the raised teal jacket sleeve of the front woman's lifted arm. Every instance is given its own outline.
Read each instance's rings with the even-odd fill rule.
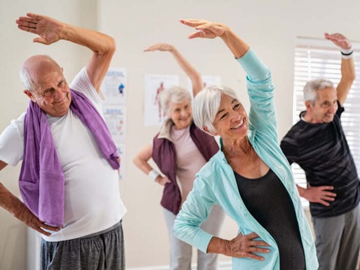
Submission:
[[[237,62],[244,68],[250,98],[249,122],[255,130],[270,132],[277,141],[277,123],[274,105],[274,86],[270,69],[253,49]]]

